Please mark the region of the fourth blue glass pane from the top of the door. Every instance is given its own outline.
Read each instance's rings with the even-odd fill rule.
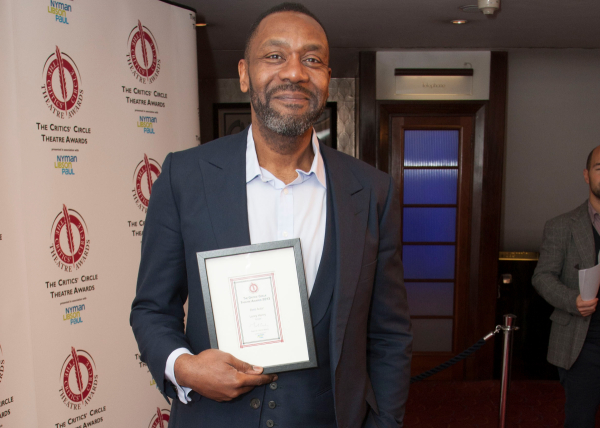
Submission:
[[[454,279],[454,245],[404,245],[404,278]]]

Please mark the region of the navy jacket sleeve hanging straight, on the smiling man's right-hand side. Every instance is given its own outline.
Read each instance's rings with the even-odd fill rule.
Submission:
[[[366,427],[403,426],[410,384],[412,332],[400,257],[400,200],[390,178],[379,218],[377,270],[367,332],[367,369],[379,412]]]

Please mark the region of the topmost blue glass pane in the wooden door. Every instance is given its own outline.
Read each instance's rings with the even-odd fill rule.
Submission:
[[[404,131],[404,166],[458,166],[459,131]]]

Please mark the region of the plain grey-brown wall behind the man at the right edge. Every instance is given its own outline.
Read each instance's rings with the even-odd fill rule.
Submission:
[[[502,242],[538,251],[546,220],[587,198],[600,144],[600,50],[509,51]]]

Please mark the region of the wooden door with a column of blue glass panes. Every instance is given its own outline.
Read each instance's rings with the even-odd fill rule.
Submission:
[[[389,125],[416,375],[461,352],[468,342],[474,117],[394,115]],[[434,377],[463,378],[462,363]]]

